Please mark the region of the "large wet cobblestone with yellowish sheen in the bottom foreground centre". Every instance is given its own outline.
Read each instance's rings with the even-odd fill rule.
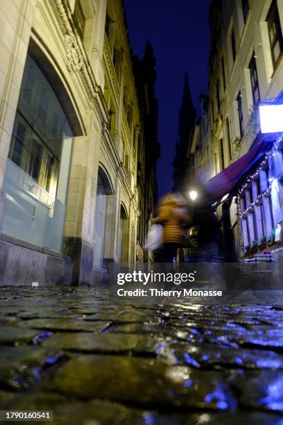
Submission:
[[[191,379],[194,385],[186,386]],[[234,408],[228,387],[219,384],[216,372],[201,372],[184,366],[169,366],[156,360],[119,356],[79,356],[58,368],[46,390],[93,399],[100,397],[146,406],[195,406],[221,410],[216,401],[205,403],[205,395],[216,385],[226,394],[224,402]],[[174,397],[170,397],[169,390]],[[219,401],[219,400],[218,400]],[[222,401],[222,400],[221,400]]]

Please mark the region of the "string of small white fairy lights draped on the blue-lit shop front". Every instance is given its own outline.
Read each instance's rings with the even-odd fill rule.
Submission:
[[[282,141],[283,141],[283,138],[282,137],[280,137],[280,138],[277,139],[276,144],[274,144],[274,147],[275,147],[276,151],[277,151],[277,148],[280,145],[280,143],[282,143]],[[257,169],[255,170],[255,172],[253,172],[252,174],[250,174],[250,176],[248,176],[248,178],[246,179],[246,183],[244,183],[241,186],[241,189],[238,192],[238,206],[239,206],[239,210],[240,210],[240,218],[243,218],[243,216],[246,215],[246,213],[252,211],[252,207],[256,206],[261,201],[261,199],[263,197],[266,197],[266,196],[268,196],[268,194],[271,193],[271,188],[272,188],[272,185],[273,185],[273,181],[275,180],[274,177],[271,177],[271,178],[268,179],[269,184],[268,184],[268,187],[266,188],[266,190],[264,190],[264,192],[258,194],[257,199],[254,199],[250,203],[250,205],[246,208],[246,210],[242,210],[242,208],[241,208],[241,201],[240,201],[241,194],[246,190],[246,188],[248,188],[248,186],[250,185],[250,182],[259,175],[259,172],[262,169],[264,169],[264,167],[266,166],[266,163],[268,163],[268,159],[271,158],[271,157],[273,157],[273,156],[275,156],[275,155],[277,155],[277,153],[278,153],[278,151],[276,153],[272,153],[271,151],[266,152],[265,153],[265,156],[264,156],[264,160],[261,161],[261,163],[259,164],[259,167],[257,167]]]

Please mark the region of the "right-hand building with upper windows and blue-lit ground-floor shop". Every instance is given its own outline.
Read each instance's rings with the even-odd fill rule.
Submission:
[[[224,249],[230,253],[228,258],[254,255],[266,247],[279,252],[282,135],[261,134],[258,106],[265,101],[282,101],[283,2],[213,0],[209,24],[213,175],[227,170],[239,158],[239,165],[243,164],[246,153],[257,152],[248,167],[239,167],[237,184],[228,198],[216,204]]]

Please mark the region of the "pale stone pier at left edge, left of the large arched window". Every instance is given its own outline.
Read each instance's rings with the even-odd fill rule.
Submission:
[[[3,178],[35,4],[35,0],[0,2],[0,228],[3,222]]]

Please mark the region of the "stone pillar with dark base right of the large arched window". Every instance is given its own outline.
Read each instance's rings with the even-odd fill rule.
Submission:
[[[87,136],[74,140],[69,174],[64,251],[74,260],[74,283],[92,281],[94,213],[101,128],[89,117]]]

